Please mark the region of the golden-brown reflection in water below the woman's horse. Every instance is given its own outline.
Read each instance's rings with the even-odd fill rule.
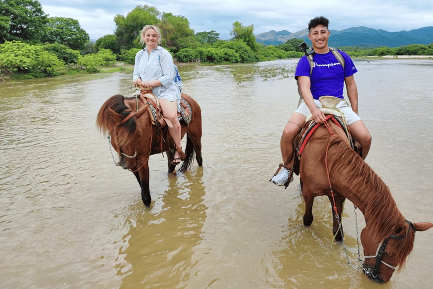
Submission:
[[[120,288],[182,288],[197,273],[192,256],[207,210],[202,176],[199,168],[195,175],[171,177],[169,189],[150,210],[130,208],[124,219],[129,230],[116,260]]]

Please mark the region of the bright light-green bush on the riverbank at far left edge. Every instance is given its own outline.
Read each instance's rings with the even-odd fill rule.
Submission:
[[[65,63],[41,45],[6,41],[0,45],[0,67],[35,76],[53,76],[60,74]]]

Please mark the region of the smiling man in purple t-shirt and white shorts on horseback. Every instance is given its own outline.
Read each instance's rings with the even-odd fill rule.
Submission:
[[[282,170],[272,178],[276,185],[286,185],[291,167],[287,167],[287,160],[293,155],[293,140],[304,125],[308,114],[312,114],[312,119],[317,123],[323,123],[325,114],[319,110],[322,104],[319,97],[330,95],[339,97],[341,101],[336,105],[346,118],[352,136],[362,146],[362,158],[368,154],[372,137],[358,115],[358,90],[356,88],[353,74],[357,71],[355,65],[345,52],[338,50],[343,57],[344,67],[331,52],[328,46],[330,31],[328,30],[329,20],[323,16],[315,17],[308,23],[308,38],[313,43],[313,63],[312,69],[307,56],[304,55],[299,60],[295,79],[298,81],[302,100],[297,110],[290,117],[284,127],[281,136],[281,154],[283,156]],[[346,83],[347,97],[350,107],[343,97],[343,87]],[[293,179],[290,180],[290,182]]]

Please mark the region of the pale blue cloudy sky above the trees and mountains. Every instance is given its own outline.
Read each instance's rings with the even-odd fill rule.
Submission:
[[[50,16],[77,19],[90,39],[113,34],[117,14],[137,5],[185,16],[194,32],[215,30],[229,39],[232,24],[254,24],[254,34],[270,30],[297,32],[314,16],[330,19],[330,29],[365,26],[390,32],[433,26],[432,0],[39,0]]]

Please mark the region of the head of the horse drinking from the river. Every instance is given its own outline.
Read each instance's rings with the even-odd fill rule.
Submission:
[[[416,231],[426,231],[432,223],[412,223],[404,221],[392,228],[392,233],[380,239],[380,234],[373,226],[365,227],[361,232],[364,248],[364,273],[377,283],[386,283],[395,270],[404,268],[407,257],[414,247]]]

